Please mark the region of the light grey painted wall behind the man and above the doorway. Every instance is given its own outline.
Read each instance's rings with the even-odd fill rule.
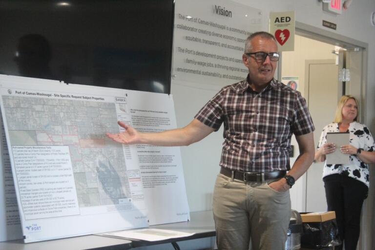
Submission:
[[[178,1],[181,0],[176,0],[176,2]],[[322,3],[318,0],[235,0],[235,2],[260,9],[263,12],[262,29],[265,31],[268,31],[268,17],[270,12],[294,10],[295,21],[308,24],[323,31],[330,31],[334,34],[368,43],[367,97],[365,100],[366,111],[364,122],[375,133],[375,111],[373,111],[373,100],[375,100],[375,70],[373,69],[375,65],[375,27],[370,23],[370,14],[372,11],[375,11],[374,0],[354,0],[349,9],[343,11],[342,15],[324,12],[322,10]],[[323,27],[322,20],[336,23],[337,30]],[[178,44],[174,46],[176,45]],[[228,82],[228,84],[230,83]],[[171,93],[174,96],[178,125],[187,125],[201,106],[217,90],[213,87],[211,90],[207,90],[206,87],[202,89],[199,86],[187,87],[183,83],[173,84],[172,81]],[[182,147],[181,149],[187,196],[191,211],[211,209],[213,183],[219,172],[218,163],[222,141],[222,130],[220,130],[202,142]],[[372,176],[374,176],[374,173],[372,173]],[[365,206],[372,208],[373,201],[374,198],[369,197]],[[371,239],[367,239],[367,241],[371,241]]]

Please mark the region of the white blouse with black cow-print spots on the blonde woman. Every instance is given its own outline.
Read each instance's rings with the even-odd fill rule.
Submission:
[[[353,122],[349,125],[349,144],[366,151],[374,151],[374,138],[370,130],[363,124]],[[327,132],[340,132],[337,123],[331,123],[323,128],[317,148],[319,149],[327,142]],[[336,148],[339,150],[339,148]],[[344,174],[369,186],[369,167],[359,160],[355,155],[349,156],[349,164],[324,163],[323,178],[330,174]]]

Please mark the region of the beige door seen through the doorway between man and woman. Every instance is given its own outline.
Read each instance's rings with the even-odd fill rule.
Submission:
[[[315,126],[317,146],[323,127],[332,123],[338,102],[338,65],[334,60],[307,60],[306,87],[308,107]],[[306,174],[306,211],[326,211],[327,203],[322,181],[324,163],[313,163]]]

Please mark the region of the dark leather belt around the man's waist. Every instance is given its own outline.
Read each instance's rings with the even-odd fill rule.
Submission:
[[[225,167],[221,167],[220,173],[233,179],[244,182],[264,182],[272,179],[281,178],[287,174],[286,170],[276,170],[272,172],[241,172],[233,171]]]

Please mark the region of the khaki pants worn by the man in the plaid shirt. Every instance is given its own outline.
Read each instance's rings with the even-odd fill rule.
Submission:
[[[275,181],[275,180],[272,180]],[[213,191],[213,217],[219,250],[284,250],[291,218],[289,190],[219,174]]]

